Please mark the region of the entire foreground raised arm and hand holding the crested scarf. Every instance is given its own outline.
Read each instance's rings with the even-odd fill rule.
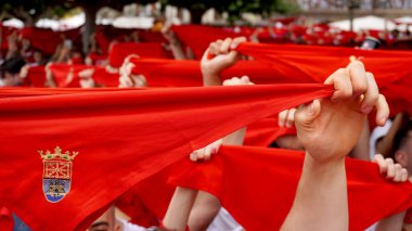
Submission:
[[[295,114],[297,136],[307,155],[282,230],[348,230],[345,156],[373,107],[377,125],[384,125],[389,114],[373,75],[360,62],[338,69],[325,84],[335,88],[332,98],[316,100]]]

